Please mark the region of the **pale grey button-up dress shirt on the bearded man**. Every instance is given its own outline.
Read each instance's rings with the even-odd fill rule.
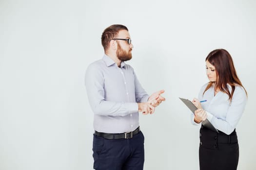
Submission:
[[[147,102],[149,96],[130,65],[121,62],[119,68],[104,55],[88,66],[85,86],[96,131],[124,133],[139,126],[137,102]]]

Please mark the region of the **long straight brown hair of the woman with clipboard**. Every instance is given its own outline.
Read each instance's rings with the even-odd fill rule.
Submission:
[[[235,86],[240,85],[244,88],[236,74],[236,69],[231,55],[224,49],[217,49],[210,52],[205,61],[208,61],[215,67],[217,80],[216,82],[210,82],[205,88],[203,94],[215,83],[215,90],[219,89],[220,91],[228,94],[229,100],[231,101],[235,91]],[[227,84],[231,85],[232,87],[231,93]],[[247,95],[246,90],[245,93]]]

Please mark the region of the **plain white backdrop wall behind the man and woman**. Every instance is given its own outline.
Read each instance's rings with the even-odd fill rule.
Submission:
[[[0,170],[93,169],[84,74],[112,24],[129,29],[127,63],[144,89],[166,91],[155,114],[140,115],[144,169],[199,169],[199,127],[178,97],[197,97],[205,57],[224,48],[249,94],[238,170],[255,170],[255,9],[254,0],[0,0]]]

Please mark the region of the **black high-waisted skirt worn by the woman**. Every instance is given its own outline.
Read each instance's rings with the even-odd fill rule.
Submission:
[[[199,136],[200,170],[236,170],[239,158],[236,129],[226,135],[202,125]]]

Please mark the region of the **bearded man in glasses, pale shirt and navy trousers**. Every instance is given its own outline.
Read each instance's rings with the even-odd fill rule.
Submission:
[[[85,86],[94,112],[93,158],[96,170],[143,170],[144,136],[138,112],[152,114],[165,98],[151,96],[139,84],[133,68],[128,29],[111,25],[101,36],[105,55],[89,65]]]

